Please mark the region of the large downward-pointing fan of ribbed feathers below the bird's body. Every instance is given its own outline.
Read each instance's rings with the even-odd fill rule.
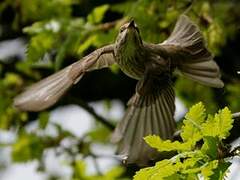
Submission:
[[[114,131],[112,141],[118,143],[117,153],[126,163],[146,165],[149,160],[156,159],[159,153],[149,147],[143,138],[153,134],[162,139],[173,137],[174,90],[168,85],[146,96],[135,94],[128,105],[123,120]]]

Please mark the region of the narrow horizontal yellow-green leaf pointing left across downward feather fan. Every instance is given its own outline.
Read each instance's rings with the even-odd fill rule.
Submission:
[[[158,151],[187,151],[191,149],[191,144],[188,142],[180,143],[179,141],[171,142],[170,140],[162,140],[159,136],[150,135],[144,138],[144,140],[152,148],[156,148]]]

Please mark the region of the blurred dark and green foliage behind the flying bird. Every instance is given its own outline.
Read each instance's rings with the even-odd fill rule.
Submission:
[[[228,106],[232,112],[239,112],[238,0],[2,0],[0,129],[13,132],[16,138],[11,143],[4,143],[0,139],[0,148],[12,148],[12,162],[35,160],[38,170],[45,172],[44,152],[49,148],[58,149],[64,139],[70,138],[76,143],[60,152],[71,157],[67,163],[72,169],[70,178],[131,179],[137,168],[124,168],[121,164],[107,173],[98,172],[94,176],[86,174],[85,158],[95,158],[90,145],[96,142],[108,144],[111,133],[111,125],[101,123],[98,114],[94,115],[96,121],[92,129],[81,138],[54,123],[56,136],[41,133],[51,123],[48,121],[49,112],[56,107],[77,104],[91,111],[88,102],[92,101],[103,100],[107,110],[111,109],[112,99],[126,103],[135,91],[136,81],[124,75],[117,66],[87,74],[60,102],[44,112],[19,112],[12,107],[12,100],[26,86],[103,45],[113,43],[119,27],[129,18],[134,18],[138,24],[143,40],[158,43],[169,36],[178,16],[188,8],[187,14],[200,26],[209,50],[215,55],[225,87],[208,88],[176,75],[173,77],[176,94],[186,107],[202,101],[210,113],[224,106]],[[9,41],[20,41],[25,53],[19,48],[8,48],[8,53],[1,51],[1,47]],[[106,120],[116,124],[113,119]],[[28,132],[26,128],[32,122],[37,122],[38,127],[34,132]],[[238,136],[237,128],[233,128],[228,140],[233,141]],[[76,158],[78,155],[82,156]],[[6,164],[1,163],[0,168],[4,171]],[[60,177],[47,175],[47,178]]]

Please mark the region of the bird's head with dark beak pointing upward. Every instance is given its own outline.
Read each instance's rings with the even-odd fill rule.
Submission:
[[[135,47],[142,45],[140,32],[134,20],[131,20],[120,27],[116,45],[119,48],[126,47],[128,45]]]

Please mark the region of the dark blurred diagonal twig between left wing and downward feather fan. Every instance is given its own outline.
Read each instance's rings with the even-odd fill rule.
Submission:
[[[70,102],[72,103],[76,103],[79,106],[81,106],[83,109],[85,109],[88,113],[90,113],[97,121],[101,122],[103,125],[105,125],[107,128],[113,130],[115,128],[115,126],[110,123],[107,119],[105,119],[104,117],[100,116],[99,114],[97,114],[95,112],[95,110],[89,106],[86,102],[78,99],[78,98],[74,98],[74,97],[69,97],[70,98]]]

